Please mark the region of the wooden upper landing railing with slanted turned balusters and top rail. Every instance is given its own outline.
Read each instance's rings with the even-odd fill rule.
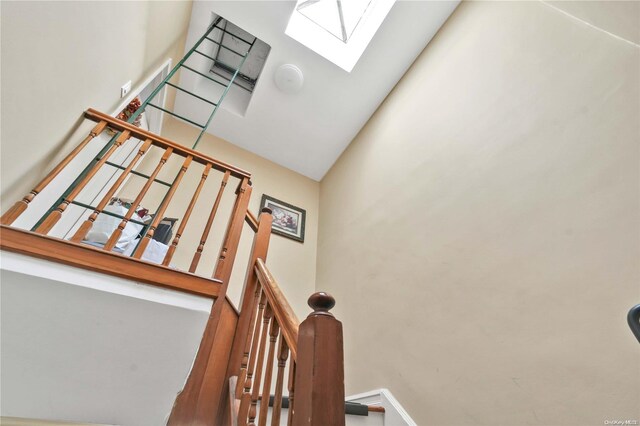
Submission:
[[[232,216],[227,226],[227,236],[223,240],[220,255],[214,266],[212,274],[214,279],[219,280],[222,276],[220,272],[222,264],[225,262],[228,263],[228,259],[231,257],[231,254],[235,256],[235,252],[237,250],[239,233],[230,233],[229,229],[233,226],[234,214],[239,214],[242,217],[244,217],[245,215],[246,206],[244,207],[244,209],[242,209],[241,206],[245,205],[248,202],[248,196],[251,190],[249,182],[251,175],[244,170],[218,161],[192,149],[180,146],[173,141],[153,134],[144,129],[138,128],[130,123],[118,120],[99,111],[89,109],[85,112],[84,117],[85,119],[91,120],[96,123],[93,129],[91,129],[89,134],[82,140],[82,142],[66,158],[64,158],[62,162],[60,162],[60,164],[58,164],[27,195],[25,195],[20,201],[16,202],[13,207],[11,207],[0,218],[0,222],[2,223],[2,225],[12,225],[23,214],[30,213],[29,208],[32,205],[34,199],[41,192],[47,190],[48,186],[52,182],[54,182],[58,175],[65,171],[67,167],[70,167],[76,157],[80,156],[84,150],[89,148],[90,143],[97,136],[109,130],[110,132],[115,132],[116,135],[118,135],[116,138],[116,142],[111,145],[111,147],[109,147],[106,151],[104,151],[103,149],[100,150],[100,154],[98,154],[97,157],[91,159],[89,166],[79,174],[71,187],[69,187],[63,194],[60,195],[58,200],[51,206],[48,211],[46,211],[39,217],[35,225],[33,225],[30,230],[42,236],[49,235],[51,231],[56,227],[56,225],[60,223],[61,219],[65,217],[69,206],[76,206],[76,208],[84,210],[87,213],[91,213],[88,215],[87,213],[85,213],[82,217],[81,223],[73,223],[72,227],[70,229],[65,229],[63,233],[66,233],[67,235],[66,241],[68,243],[81,244],[83,242],[88,242],[86,238],[96,224],[96,220],[101,215],[116,217],[120,220],[118,226],[113,230],[107,241],[97,249],[112,253],[127,225],[129,223],[133,223],[142,227],[142,231],[140,232],[140,238],[137,240],[135,249],[131,252],[130,258],[139,261],[143,259],[143,255],[148,249],[148,246],[152,241],[160,222],[164,218],[165,213],[167,212],[167,208],[174,200],[176,193],[180,192],[183,197],[185,194],[190,194],[188,196],[188,205],[184,210],[184,213],[180,217],[176,218],[177,222],[175,224],[175,227],[177,227],[177,229],[174,230],[175,235],[168,245],[166,254],[161,259],[161,262],[157,262],[159,263],[159,265],[157,266],[164,268],[169,268],[170,266],[172,266],[172,259],[176,255],[176,252],[182,248],[181,237],[182,235],[184,235],[187,227],[189,227],[190,219],[193,218],[195,206],[196,203],[198,203],[198,213],[200,215],[207,215],[207,221],[204,227],[200,230],[201,236],[199,239],[199,244],[197,245],[195,250],[193,250],[191,254],[182,253],[183,258],[189,257],[191,259],[189,266],[185,266],[183,268],[184,272],[195,274],[198,271],[198,267],[200,266],[203,251],[205,247],[207,247],[207,243],[210,240],[210,234],[212,226],[214,224],[214,219],[216,219],[217,213],[219,212],[220,203],[225,189],[228,186],[228,183],[233,180],[237,182],[237,189],[235,194],[236,202],[232,212]],[[137,147],[133,151],[131,151],[131,155],[129,155],[129,157],[131,158],[121,165],[111,162],[110,159],[119,155],[120,150],[125,149],[124,146],[127,141],[129,141],[129,144],[137,143]],[[97,141],[96,143],[101,142]],[[108,142],[105,143],[108,144]],[[97,148],[100,148],[100,146]],[[93,147],[93,149],[95,151],[96,147]],[[129,145],[127,149],[131,150],[131,145]],[[150,174],[145,174],[137,171],[136,168],[142,164],[141,160],[147,154],[149,154],[151,150],[155,150],[156,154],[160,156],[159,161],[155,162],[155,164],[152,165],[153,171]],[[171,161],[177,161],[180,167],[175,173],[174,178],[171,180],[171,182],[161,181],[160,179],[158,179],[158,176],[161,171],[167,168],[167,163]],[[197,184],[195,186],[187,185],[184,183],[183,178],[187,171],[194,168],[197,168],[198,173],[200,174],[200,179],[197,181]],[[79,168],[76,166],[75,169]],[[106,185],[100,192],[99,196],[95,198],[96,202],[91,205],[87,202],[84,202],[83,200],[81,201],[83,191],[89,190],[89,192],[91,192],[95,190],[96,186],[104,184],[104,177],[103,181],[100,181],[100,179],[98,179],[98,175],[100,174],[100,172],[105,171],[105,169],[108,169],[110,173],[113,173],[113,178],[108,181],[108,185]],[[169,169],[171,168],[169,167]],[[171,174],[172,171],[175,170],[168,170],[169,174]],[[215,196],[215,199],[213,200],[204,199],[202,197],[203,188],[205,186],[207,178],[210,178],[213,175],[214,171],[217,171],[216,174],[222,176],[217,194]],[[111,211],[107,211],[106,207],[108,206],[110,201],[114,197],[119,195],[120,191],[123,189],[123,187],[125,187],[127,181],[132,176],[143,178],[145,179],[145,182],[142,188],[137,191],[137,193],[135,193],[134,191],[134,199],[130,202],[130,207],[126,210],[126,213],[116,214]],[[154,183],[160,183],[161,185],[165,186],[166,192],[161,197],[161,201],[159,202],[157,209],[155,210],[155,212],[153,212],[153,218],[146,222],[142,222],[141,219],[138,216],[134,216],[134,214],[143,200],[147,199],[146,196],[148,195],[149,190]],[[244,201],[240,203],[241,200]],[[154,203],[157,202],[157,200],[151,201],[153,201]],[[242,211],[240,212],[239,209]],[[175,211],[176,209],[174,209],[174,213]],[[196,231],[194,227],[190,227],[190,230],[192,232]],[[95,247],[92,248],[96,249]],[[189,249],[185,248],[185,250]],[[209,265],[207,265],[207,267],[208,266]],[[200,268],[200,270],[202,269],[204,268]]]

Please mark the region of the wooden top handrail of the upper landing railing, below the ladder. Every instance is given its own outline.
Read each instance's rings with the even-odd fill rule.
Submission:
[[[147,130],[141,129],[140,127],[136,127],[133,124],[127,123],[126,121],[118,120],[117,118],[111,117],[108,114],[97,111],[93,108],[89,108],[84,113],[85,118],[89,120],[100,122],[105,121],[107,125],[114,130],[125,131],[128,130],[131,133],[132,137],[136,139],[151,139],[153,144],[159,146],[161,148],[173,148],[173,152],[175,154],[181,155],[183,157],[191,155],[193,157],[193,161],[206,165],[207,163],[211,163],[211,166],[221,172],[226,172],[227,170],[231,173],[232,176],[237,178],[250,178],[251,173],[242,170],[238,167],[232,166],[230,164],[224,163],[222,161],[218,161],[215,158],[211,158],[207,155],[202,154],[201,152],[194,151],[192,149],[186,148],[182,145],[179,145],[169,139],[163,138],[162,136],[158,136],[155,133],[151,133]]]

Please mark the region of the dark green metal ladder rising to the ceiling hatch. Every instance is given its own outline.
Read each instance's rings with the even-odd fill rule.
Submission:
[[[222,38],[221,41],[217,41],[214,40],[211,37],[211,34],[214,31],[221,31],[222,32]],[[223,44],[224,41],[224,36],[228,35],[230,37],[233,37],[235,40],[238,40],[239,42],[241,42],[242,44],[245,44],[247,46],[246,51],[244,53],[242,52],[238,52],[235,49],[230,48],[229,46],[225,46]],[[211,25],[209,25],[209,27],[207,28],[207,30],[205,31],[205,33],[202,35],[202,37],[200,37],[198,39],[198,41],[193,45],[193,47],[191,47],[191,49],[189,49],[189,51],[187,51],[187,53],[184,55],[184,57],[178,61],[178,63],[173,67],[173,69],[169,72],[169,74],[167,74],[167,76],[162,80],[162,82],[160,82],[160,84],[158,84],[153,91],[149,94],[149,96],[147,96],[147,98],[142,101],[140,107],[127,119],[127,123],[134,123],[136,121],[136,119],[140,116],[140,114],[142,114],[146,108],[151,107],[151,108],[155,108],[158,109],[164,113],[167,113],[173,117],[176,117],[177,119],[180,119],[182,121],[185,121],[189,124],[192,124],[196,127],[198,127],[200,129],[200,133],[198,134],[198,137],[196,138],[195,142],[193,143],[192,149],[196,149],[196,147],[198,146],[198,144],[200,143],[200,140],[202,139],[202,136],[205,134],[205,132],[207,131],[207,129],[209,128],[209,126],[211,125],[211,121],[213,120],[213,117],[215,116],[216,112],[218,111],[218,108],[220,107],[220,104],[222,103],[222,101],[224,100],[224,98],[227,96],[227,94],[229,93],[229,89],[231,88],[231,86],[235,83],[236,78],[241,75],[240,74],[240,70],[242,69],[245,61],[247,60],[247,57],[249,56],[249,54],[251,53],[251,49],[253,48],[253,46],[255,45],[257,41],[257,38],[254,37],[252,41],[248,41],[245,40],[244,38],[238,36],[237,34],[234,34],[232,32],[230,32],[229,30],[227,30],[227,21],[222,18],[222,17],[216,17],[213,22],[211,23]],[[202,52],[202,50],[200,49],[200,47],[204,44],[204,43],[214,43],[215,45],[217,45],[217,54],[216,57],[212,57],[210,55],[207,55],[206,53]],[[220,61],[218,59],[219,56],[219,52],[220,49],[225,49],[229,52],[231,52],[234,55],[237,55],[238,58],[240,59],[240,63],[237,67],[232,67],[229,64],[223,63],[222,61]],[[229,71],[229,73],[231,74],[231,77],[225,77],[224,75],[221,74],[215,74],[217,77],[221,77],[222,79],[226,80],[226,81],[220,81],[217,78],[214,78],[211,75],[207,75],[203,72],[200,72],[198,70],[196,70],[195,68],[193,68],[192,66],[187,64],[187,61],[189,60],[189,58],[193,55],[193,54],[198,54],[200,56],[203,56],[211,61],[213,61],[214,64],[218,64],[220,66],[222,66],[223,69]],[[217,102],[213,102],[209,99],[206,99],[202,96],[199,96],[193,92],[190,92],[188,90],[186,90],[183,87],[180,87],[178,84],[176,83],[171,83],[170,80],[174,77],[174,75],[178,72],[178,70],[180,69],[186,69],[189,72],[195,73],[200,75],[201,77],[204,77],[205,79],[218,84],[222,87],[224,87],[224,90],[222,92],[222,94],[220,95],[220,98],[217,100]],[[166,108],[163,108],[159,105],[156,105],[154,103],[152,103],[153,99],[158,95],[158,93],[160,93],[166,86],[169,87],[173,87],[174,89],[176,89],[177,91],[183,92],[189,96],[195,97],[207,104],[209,104],[212,107],[211,113],[209,114],[209,118],[207,119],[206,123],[204,124],[200,124],[195,122],[194,120],[191,120],[187,117],[183,117],[179,114],[176,114],[173,111],[170,111]],[[239,86],[240,87],[240,86]],[[93,169],[93,167],[100,161],[100,159],[109,151],[109,149],[116,143],[116,141],[118,140],[118,138],[120,137],[122,132],[116,132],[113,137],[109,140],[109,142],[107,142],[105,144],[105,146],[100,150],[100,152],[93,158],[92,161],[89,162],[89,164],[84,168],[84,170],[78,175],[78,177],[73,181],[73,183],[71,185],[69,185],[69,187],[63,192],[63,194],[60,196],[60,198],[58,198],[49,208],[49,210],[47,211],[47,213],[45,213],[40,220],[31,228],[31,231],[35,231],[44,221],[44,219],[51,213],[53,212],[56,207],[63,202],[67,196],[69,194],[72,193],[72,191],[74,190],[74,188],[80,183],[82,182],[82,180],[87,176],[88,173],[90,173],[90,171]],[[124,169],[124,167],[121,167],[117,164],[112,164],[109,163],[109,165],[114,166],[116,168],[119,168],[121,170]],[[177,176],[176,176],[177,178]],[[175,182],[175,179],[174,179]],[[166,184],[166,186],[171,186],[171,184]],[[165,195],[166,197],[166,195]],[[79,202],[72,202],[72,204],[78,205],[79,207],[85,208],[85,209],[91,209],[92,206],[89,205],[85,205],[83,203],[79,203]],[[146,231],[146,228],[144,229],[144,231]]]

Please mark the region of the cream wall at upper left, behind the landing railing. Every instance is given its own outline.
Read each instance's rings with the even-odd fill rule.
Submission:
[[[22,198],[87,134],[88,107],[110,112],[179,57],[190,1],[3,1],[2,210]],[[80,126],[80,127],[78,127]]]

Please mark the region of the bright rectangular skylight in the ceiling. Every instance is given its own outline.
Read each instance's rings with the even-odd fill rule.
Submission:
[[[351,72],[395,0],[298,0],[285,33]]]

